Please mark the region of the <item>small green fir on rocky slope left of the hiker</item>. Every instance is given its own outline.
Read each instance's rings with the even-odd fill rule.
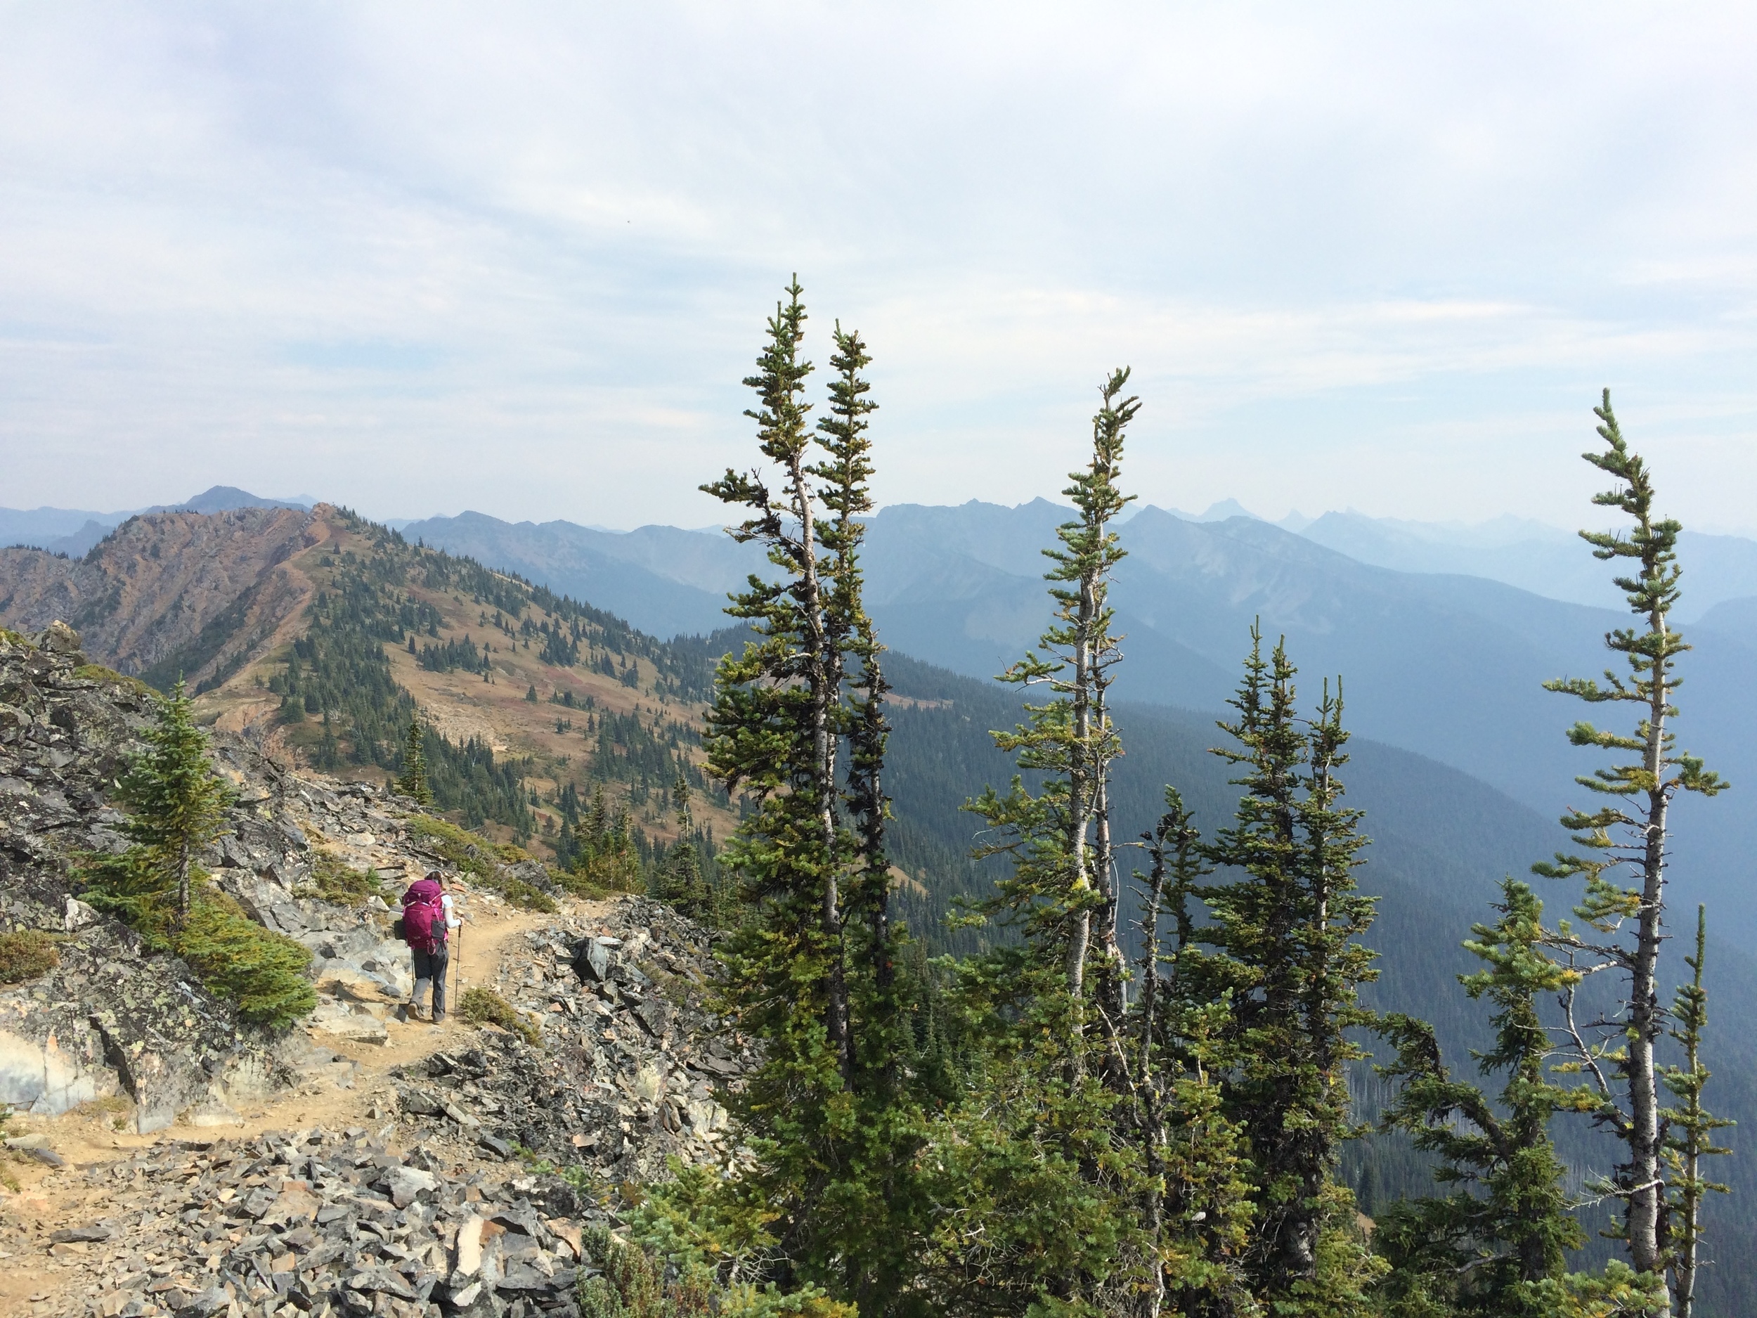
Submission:
[[[207,735],[195,726],[183,678],[160,701],[142,740],[146,754],[121,778],[128,808],[123,833],[137,844],[149,886],[172,894],[172,924],[181,928],[190,917],[195,861],[225,831],[232,793],[207,763]]]

